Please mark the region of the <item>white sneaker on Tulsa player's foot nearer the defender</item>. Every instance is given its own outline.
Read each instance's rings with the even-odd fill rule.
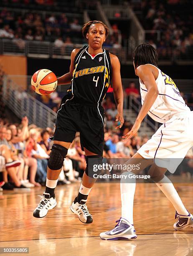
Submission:
[[[83,223],[90,224],[93,222],[92,215],[90,215],[89,210],[86,206],[86,200],[81,200],[79,202],[72,203],[70,210],[79,216],[79,220]]]

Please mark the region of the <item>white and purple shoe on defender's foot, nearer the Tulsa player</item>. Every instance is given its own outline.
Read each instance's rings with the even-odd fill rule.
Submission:
[[[124,218],[117,220],[118,224],[110,231],[100,233],[103,240],[132,240],[137,238],[135,228]]]

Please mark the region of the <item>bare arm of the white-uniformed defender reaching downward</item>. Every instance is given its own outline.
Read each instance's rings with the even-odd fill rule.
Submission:
[[[155,82],[155,77],[152,73],[152,70],[150,67],[146,65],[141,65],[136,69],[136,74],[145,84],[145,87],[147,88],[147,94],[145,96],[145,100],[143,102],[142,108],[137,116],[137,119],[131,129],[126,135],[124,135],[122,138],[127,139],[131,138],[137,131],[139,130],[141,126],[142,120],[147,115],[148,111],[152,107],[153,103],[157,99],[158,95],[158,89],[157,84]]]

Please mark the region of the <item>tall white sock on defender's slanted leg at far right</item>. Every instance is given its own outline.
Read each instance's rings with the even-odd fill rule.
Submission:
[[[180,215],[188,215],[188,211],[185,209],[185,206],[183,205],[182,200],[180,199],[178,192],[175,190],[174,185],[164,175],[163,179],[161,179],[158,183],[155,183],[157,187],[164,193],[164,195],[170,200],[170,202],[173,204],[175,210]]]

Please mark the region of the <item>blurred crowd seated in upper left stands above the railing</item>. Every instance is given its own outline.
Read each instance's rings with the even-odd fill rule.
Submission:
[[[81,23],[81,24],[80,24]],[[42,15],[41,13],[22,13],[6,8],[0,12],[0,38],[20,39],[28,41],[51,41],[57,44],[58,39],[73,43],[81,43],[81,27],[83,20],[68,18],[63,14]]]

